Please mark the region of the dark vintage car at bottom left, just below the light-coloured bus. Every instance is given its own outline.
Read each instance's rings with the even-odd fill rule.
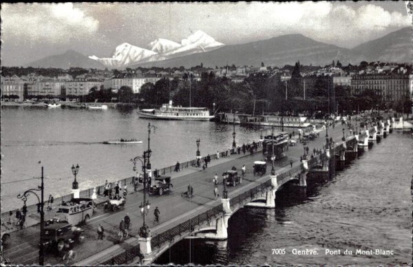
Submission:
[[[41,242],[46,249],[60,252],[65,243],[81,242],[84,230],[67,222],[54,222],[43,228]]]

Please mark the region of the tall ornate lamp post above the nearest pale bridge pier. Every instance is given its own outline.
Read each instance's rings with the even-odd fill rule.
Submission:
[[[145,223],[145,216],[149,213],[149,209],[151,208],[151,204],[149,200],[146,198],[146,189],[147,189],[147,182],[148,182],[148,173],[147,169],[147,162],[149,162],[149,158],[151,157],[151,151],[144,151],[143,157],[135,157],[131,159],[131,162],[134,162],[134,171],[136,171],[136,162],[139,160],[142,163],[142,171],[143,171],[143,202],[140,202],[140,215],[143,217],[143,224],[139,228],[139,235],[140,237],[150,237],[149,227]]]

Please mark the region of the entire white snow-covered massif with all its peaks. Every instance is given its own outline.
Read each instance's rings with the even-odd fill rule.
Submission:
[[[163,61],[176,56],[207,52],[224,45],[200,30],[182,39],[180,43],[167,39],[156,39],[149,43],[150,50],[123,43],[116,47],[112,58],[98,58],[97,56],[89,56],[89,58],[99,61],[107,67],[125,67],[132,64]]]

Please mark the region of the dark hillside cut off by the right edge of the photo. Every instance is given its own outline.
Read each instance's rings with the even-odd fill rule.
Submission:
[[[379,39],[362,43],[351,51],[359,55],[359,61],[382,61],[412,63],[413,42],[412,28],[403,28],[396,32],[390,32]]]

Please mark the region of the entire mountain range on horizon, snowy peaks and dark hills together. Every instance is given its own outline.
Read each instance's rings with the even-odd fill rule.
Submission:
[[[32,67],[205,67],[232,65],[326,65],[332,60],[342,64],[361,61],[408,62],[413,58],[412,29],[403,28],[352,49],[315,41],[302,34],[288,34],[271,39],[224,45],[198,30],[180,43],[157,39],[141,48],[129,43],[116,47],[110,58],[83,56],[74,51],[47,56],[28,65]]]

